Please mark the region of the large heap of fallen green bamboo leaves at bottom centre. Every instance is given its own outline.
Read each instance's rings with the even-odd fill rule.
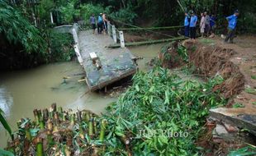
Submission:
[[[205,123],[208,109],[225,103],[211,91],[219,80],[210,80],[206,85],[183,81],[158,67],[149,73],[137,73],[133,81],[130,89],[107,108],[107,154],[127,155],[122,141],[127,138],[132,138],[130,148],[135,155],[197,154],[194,143]],[[140,135],[141,130],[147,134]],[[148,135],[156,130],[182,131],[188,135]]]

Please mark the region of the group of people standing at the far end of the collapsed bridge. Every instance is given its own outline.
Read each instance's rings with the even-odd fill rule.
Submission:
[[[92,34],[95,34],[97,25],[97,34],[107,33],[107,15],[105,13],[100,13],[97,18],[94,14],[90,17],[90,24],[92,25]]]

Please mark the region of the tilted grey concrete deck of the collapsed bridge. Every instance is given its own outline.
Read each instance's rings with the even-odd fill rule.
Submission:
[[[135,74],[136,65],[128,48],[107,48],[114,40],[107,34],[92,34],[92,30],[78,32],[78,48],[91,90],[102,89],[116,80]],[[97,69],[89,53],[96,53],[102,68]]]

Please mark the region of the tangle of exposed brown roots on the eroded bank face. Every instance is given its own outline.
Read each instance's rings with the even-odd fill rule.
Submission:
[[[183,56],[177,52],[178,44],[169,44],[167,52],[160,53],[159,58],[164,67],[181,67],[186,64],[183,61]],[[224,78],[224,81],[220,85],[216,85],[213,91],[220,89],[225,99],[228,99],[244,89],[244,75],[239,71],[239,67],[230,61],[230,57],[236,53],[234,50],[200,42],[194,44],[189,40],[182,44],[187,48],[187,63],[193,66],[194,72],[202,76],[220,75]]]

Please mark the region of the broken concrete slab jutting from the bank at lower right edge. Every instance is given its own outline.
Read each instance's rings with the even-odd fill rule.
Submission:
[[[256,135],[255,112],[254,114],[240,114],[238,113],[239,111],[235,111],[234,109],[240,108],[214,108],[210,110],[210,116],[241,129],[247,129],[250,133]]]

